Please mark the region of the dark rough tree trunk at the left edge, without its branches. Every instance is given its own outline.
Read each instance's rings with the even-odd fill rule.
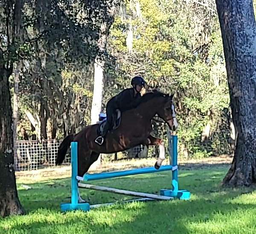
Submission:
[[[12,51],[19,40],[23,0],[2,1],[0,7],[1,34],[3,32],[0,46],[0,216],[5,217],[24,212],[16,188],[12,102],[9,90],[9,77],[15,60]]]

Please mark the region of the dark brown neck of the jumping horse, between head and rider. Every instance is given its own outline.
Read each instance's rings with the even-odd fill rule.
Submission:
[[[159,109],[161,98],[152,98],[140,104],[137,107],[137,112],[143,116],[143,119],[152,119]]]

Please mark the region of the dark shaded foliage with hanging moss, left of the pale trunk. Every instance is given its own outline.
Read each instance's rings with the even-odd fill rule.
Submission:
[[[18,71],[20,110],[38,116],[41,131],[47,121],[49,129],[64,135],[81,130],[90,121],[94,59],[106,59],[98,43],[108,33],[102,25],[111,25],[120,1],[15,3],[0,2],[0,62],[10,74],[16,62],[23,65]],[[72,73],[72,81],[63,79],[64,71]],[[20,117],[20,127],[29,126],[23,113]],[[30,127],[26,130],[32,134]]]

